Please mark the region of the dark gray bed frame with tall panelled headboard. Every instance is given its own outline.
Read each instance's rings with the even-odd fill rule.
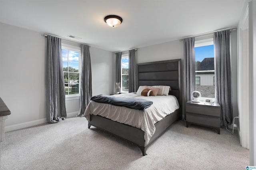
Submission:
[[[176,101],[178,101],[179,109],[175,109],[171,114],[165,116],[162,120],[154,123],[154,133],[149,136],[150,138],[146,138],[146,132],[141,128],[136,126],[127,125],[124,123],[119,123],[117,121],[113,121],[105,117],[109,113],[106,113],[106,110],[100,110],[99,113],[102,112],[102,116],[98,115],[98,113],[90,113],[90,117],[88,118],[89,108],[92,109],[94,101],[91,101],[88,107],[86,108],[86,112],[84,116],[87,116],[88,120],[88,128],[94,126],[120,138],[124,138],[129,140],[130,142],[138,145],[140,150],[142,151],[142,155],[146,155],[146,150],[148,146],[154,142],[165,130],[172,125],[176,120],[182,118],[182,102],[181,102],[181,59],[174,60],[166,60],[166,61],[156,61],[150,63],[139,63],[137,64],[138,68],[138,87],[141,86],[154,86],[154,85],[164,85],[170,86],[169,96],[175,97]],[[136,93],[130,95],[138,95]],[[116,95],[118,97],[119,95]],[[121,97],[121,95],[119,96]],[[149,99],[149,98],[148,98]],[[153,102],[154,103],[154,102]],[[99,103],[101,105],[105,103]],[[108,105],[108,104],[105,104]],[[114,106],[120,107],[120,106]],[[103,107],[101,107],[103,108]],[[124,108],[124,107],[122,107]],[[119,108],[120,109],[120,108]],[[148,108],[150,109],[150,107]],[[93,110],[93,109],[92,109]],[[95,109],[96,110],[96,109]],[[108,110],[108,109],[107,109]],[[125,110],[125,109],[124,109]],[[134,110],[134,109],[133,109]],[[111,110],[112,111],[112,110]],[[113,111],[114,112],[114,111]],[[104,115],[105,114],[105,115]],[[120,111],[119,111],[120,114]]]

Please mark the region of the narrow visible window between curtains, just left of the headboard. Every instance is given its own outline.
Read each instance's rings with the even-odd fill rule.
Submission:
[[[129,92],[129,54],[122,54],[121,93]]]

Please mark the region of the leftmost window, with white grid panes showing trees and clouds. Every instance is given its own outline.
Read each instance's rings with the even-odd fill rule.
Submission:
[[[80,49],[62,46],[62,62],[65,93],[69,96],[80,94]]]

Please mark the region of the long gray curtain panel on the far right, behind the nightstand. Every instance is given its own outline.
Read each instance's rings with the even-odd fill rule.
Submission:
[[[214,32],[216,103],[220,104],[220,127],[228,127],[232,123],[232,89],[230,63],[230,31]]]

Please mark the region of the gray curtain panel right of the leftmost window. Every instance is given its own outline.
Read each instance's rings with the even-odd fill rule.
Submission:
[[[84,116],[84,111],[92,97],[92,68],[89,46],[81,44],[81,97],[78,117]]]

